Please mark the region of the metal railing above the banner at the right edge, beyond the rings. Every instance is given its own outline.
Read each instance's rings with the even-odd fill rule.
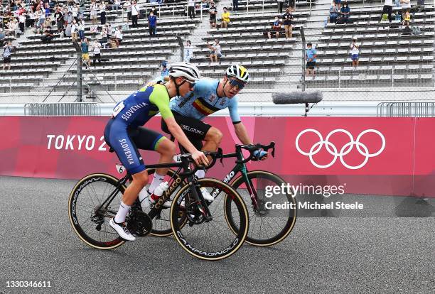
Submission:
[[[434,117],[435,102],[383,102],[377,104],[377,116]]]

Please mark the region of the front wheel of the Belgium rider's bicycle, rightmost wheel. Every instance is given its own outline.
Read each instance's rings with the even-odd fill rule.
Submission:
[[[283,184],[285,189],[275,193],[273,187],[281,188]],[[247,173],[247,178],[240,175],[231,185],[248,207],[247,243],[255,246],[271,246],[290,234],[296,222],[297,204],[293,191],[287,190],[287,183],[283,179],[264,170],[252,170]],[[225,211],[230,226],[236,230],[238,227],[237,222],[232,221],[231,205],[231,202],[227,202]]]

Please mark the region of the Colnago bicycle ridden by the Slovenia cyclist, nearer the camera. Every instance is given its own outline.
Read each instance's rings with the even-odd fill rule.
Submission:
[[[218,153],[206,153],[212,156],[214,165]],[[127,227],[135,236],[146,236],[152,230],[153,219],[164,210],[163,207],[173,192],[173,202],[169,212],[171,233],[178,244],[189,254],[205,259],[220,260],[227,258],[240,249],[247,236],[249,217],[247,207],[242,197],[235,189],[220,180],[204,178],[197,180],[193,174],[198,169],[190,168],[193,160],[190,154],[183,154],[181,162],[148,165],[149,168],[178,168],[171,177],[169,188],[159,200],[145,213],[141,209],[139,199],[136,199],[127,215]],[[183,172],[181,172],[183,171]],[[85,244],[96,249],[114,249],[125,243],[125,240],[109,227],[109,219],[115,216],[121,197],[127,188],[131,175],[127,173],[118,179],[112,175],[95,173],[78,181],[70,193],[68,214],[75,234]],[[219,190],[213,207],[203,199],[200,187],[208,190]],[[87,199],[89,198],[89,199]],[[225,212],[219,211],[219,203],[227,209],[230,203],[231,213],[235,214],[235,226],[228,225],[225,231],[222,224],[228,224]],[[221,219],[222,218],[222,219]],[[205,228],[206,227],[206,228]],[[215,233],[210,233],[215,229]],[[207,243],[209,242],[209,243]]]

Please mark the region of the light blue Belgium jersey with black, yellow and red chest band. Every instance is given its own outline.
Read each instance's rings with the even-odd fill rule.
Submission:
[[[216,92],[218,85],[218,80],[198,80],[195,82],[192,92],[188,92],[184,97],[176,97],[171,101],[171,110],[183,116],[201,120],[220,109],[228,108],[233,124],[239,123],[237,96],[232,98],[218,97]]]

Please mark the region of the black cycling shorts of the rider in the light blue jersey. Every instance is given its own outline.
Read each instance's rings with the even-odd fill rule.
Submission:
[[[211,128],[210,124],[206,124],[204,121],[200,121],[199,119],[182,116],[176,111],[172,111],[172,113],[177,124],[181,126],[181,129],[183,130],[184,134],[186,134],[189,141],[193,143],[193,146],[195,146],[195,148],[201,150],[201,148],[203,148],[202,141],[205,139],[205,135]],[[167,134],[171,134],[164,119],[161,120],[161,130]]]

